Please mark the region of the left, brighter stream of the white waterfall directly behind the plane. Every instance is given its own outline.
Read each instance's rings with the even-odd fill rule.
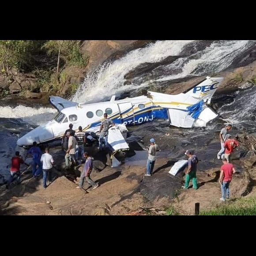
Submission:
[[[145,48],[133,50],[112,63],[105,63],[85,79],[72,100],[79,103],[88,100],[97,102],[117,92],[132,90],[133,85],[124,85],[125,74],[139,64],[155,63],[168,56],[179,55],[184,45],[192,41],[194,40],[157,41]]]

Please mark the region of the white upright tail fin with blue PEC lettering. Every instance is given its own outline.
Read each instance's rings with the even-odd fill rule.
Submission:
[[[207,76],[206,79],[184,91],[183,94],[203,100],[204,103],[210,104],[211,98],[213,94],[215,94],[222,80],[223,77],[211,78],[210,76]]]

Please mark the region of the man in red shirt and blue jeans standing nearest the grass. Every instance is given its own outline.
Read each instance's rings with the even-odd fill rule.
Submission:
[[[234,166],[227,162],[226,158],[222,159],[223,165],[220,168],[219,184],[221,184],[221,198],[219,200],[226,201],[230,198],[230,182],[233,173],[236,172]]]

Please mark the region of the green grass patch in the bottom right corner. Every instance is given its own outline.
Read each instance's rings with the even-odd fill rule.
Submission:
[[[256,215],[256,197],[227,201],[199,215]]]

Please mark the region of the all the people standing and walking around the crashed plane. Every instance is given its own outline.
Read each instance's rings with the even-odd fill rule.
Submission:
[[[107,147],[107,138],[109,128],[114,126],[112,120],[107,118],[107,113],[104,114],[104,119],[102,120],[100,129],[99,129],[99,150]],[[86,179],[87,183],[93,186],[93,189],[98,188],[98,184],[90,179],[90,173],[93,169],[93,158],[88,154],[88,152],[84,152],[85,144],[87,143],[87,138],[85,136],[85,132],[81,126],[79,126],[79,131],[75,132],[73,129],[73,124],[69,124],[69,129],[67,129],[63,136],[62,146],[66,147],[65,154],[65,162],[66,166],[69,168],[71,166],[71,162],[76,164],[78,162],[79,152],[81,152],[82,161],[85,162],[83,172],[81,173],[79,186],[77,188],[83,188],[84,179]],[[228,124],[226,127],[222,128],[219,133],[221,150],[217,154],[218,159],[222,159],[223,165],[220,168],[220,178],[219,183],[221,184],[222,197],[221,201],[225,201],[230,196],[229,185],[232,180],[232,175],[235,173],[235,168],[231,164],[231,154],[233,153],[233,149],[239,146],[237,140],[232,139],[232,136],[228,134],[228,131],[232,128],[231,124]],[[66,146],[65,146],[66,144]],[[146,166],[145,176],[150,177],[153,174],[154,164],[156,161],[156,152],[160,151],[158,145],[155,143],[154,138],[150,139],[150,147],[148,148],[148,159]],[[46,180],[47,176],[49,176],[49,184],[52,183],[52,171],[53,171],[53,157],[49,154],[49,148],[45,149],[45,154],[41,154],[40,148],[37,146],[37,143],[33,143],[33,147],[31,147],[27,151],[27,155],[32,155],[33,163],[32,163],[32,174],[33,177],[40,176],[41,172],[43,172],[43,187],[46,188]],[[196,178],[196,170],[199,159],[193,154],[192,151],[187,150],[185,155],[188,157],[188,169],[185,171],[185,183],[182,188],[188,189],[189,182],[192,180],[193,188],[197,189],[197,178]],[[11,159],[11,177],[9,178],[6,187],[9,188],[11,182],[17,176],[18,181],[20,182],[20,164],[24,164],[23,159],[21,158],[19,151],[15,152],[15,156]]]

